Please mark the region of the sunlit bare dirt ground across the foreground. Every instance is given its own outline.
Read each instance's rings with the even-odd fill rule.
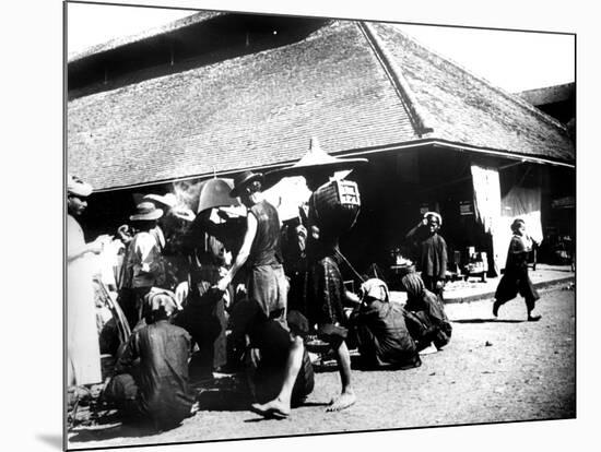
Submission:
[[[564,285],[565,286],[565,285]],[[241,394],[216,391],[201,397],[204,409],[174,430],[152,433],[103,424],[78,427],[69,447],[104,448],[215,439],[410,428],[576,415],[575,294],[557,286],[541,292],[540,322],[526,322],[521,299],[494,320],[492,302],[448,305],[450,344],[424,356],[422,366],[398,371],[353,371],[358,402],[329,414],[323,405],[339,391],[334,371],[316,374],[307,404],[290,419],[264,420],[245,409]]]

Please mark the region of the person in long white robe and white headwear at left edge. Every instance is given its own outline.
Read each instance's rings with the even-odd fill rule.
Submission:
[[[67,384],[102,382],[101,349],[96,329],[96,309],[92,269],[86,254],[99,254],[103,237],[86,243],[75,219],[87,207],[92,187],[78,177],[67,178]]]

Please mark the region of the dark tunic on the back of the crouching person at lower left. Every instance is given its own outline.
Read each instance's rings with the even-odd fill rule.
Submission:
[[[135,394],[140,414],[161,427],[177,425],[190,415],[195,401],[188,385],[189,356],[190,335],[184,329],[166,320],[141,328],[130,336],[117,361],[117,377],[107,388],[108,394],[123,399]],[[125,382],[129,385],[123,390]]]

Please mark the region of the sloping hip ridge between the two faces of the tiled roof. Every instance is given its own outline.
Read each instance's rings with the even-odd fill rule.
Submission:
[[[406,106],[409,116],[416,127],[419,135],[424,135],[434,131],[433,121],[428,112],[420,107],[411,86],[404,78],[401,68],[396,63],[381,39],[377,36],[372,25],[365,21],[357,21],[357,26],[367,39],[369,47],[374,50],[375,57],[382,66],[386,74],[392,82],[397,95]]]

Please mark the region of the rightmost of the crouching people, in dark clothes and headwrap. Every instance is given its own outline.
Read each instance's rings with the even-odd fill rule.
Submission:
[[[415,272],[404,275],[401,283],[406,290],[405,322],[422,355],[436,353],[450,341],[452,326],[445,307],[435,294],[426,289]]]

